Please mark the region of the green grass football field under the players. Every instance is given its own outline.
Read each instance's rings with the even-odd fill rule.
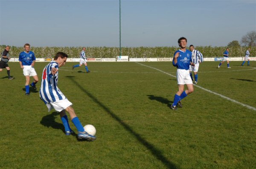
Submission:
[[[96,141],[65,136],[55,111],[32,88],[25,96],[19,63],[0,73],[0,168],[256,168],[256,62],[203,62],[194,93],[171,110],[177,92],[171,62],[89,62],[59,70],[58,87]],[[35,69],[41,73],[47,63]],[[70,121],[70,126],[76,131]]]

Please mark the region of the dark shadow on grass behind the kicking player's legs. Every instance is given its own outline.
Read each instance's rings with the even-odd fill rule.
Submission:
[[[40,124],[48,128],[52,127],[53,129],[62,130],[65,133],[63,124],[55,121],[55,118],[57,117],[60,117],[60,114],[58,112],[52,112],[52,114],[44,116],[40,121]]]

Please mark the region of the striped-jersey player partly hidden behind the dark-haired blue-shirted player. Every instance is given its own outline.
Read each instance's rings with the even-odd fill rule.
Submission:
[[[203,55],[198,50],[195,50],[194,45],[190,45],[189,50],[192,52],[192,62],[195,64],[195,66],[189,65],[189,75],[193,81],[194,79],[192,76],[192,71],[194,72],[195,84],[197,84],[198,83],[197,73],[198,73],[199,63],[203,62]]]

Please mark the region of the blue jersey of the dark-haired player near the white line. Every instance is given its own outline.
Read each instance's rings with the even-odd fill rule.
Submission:
[[[192,62],[191,59],[191,51],[186,50],[185,52],[178,50],[174,53],[174,56],[177,52],[180,52],[180,56],[177,57],[177,63],[174,63],[174,57],[172,60],[172,65],[174,65],[175,67],[177,67],[178,69],[185,69],[185,70],[189,70],[189,65],[190,62]]]

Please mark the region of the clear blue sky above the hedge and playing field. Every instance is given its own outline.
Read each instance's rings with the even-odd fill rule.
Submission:
[[[121,0],[122,47],[226,46],[256,30],[256,0]],[[0,45],[119,47],[119,0],[0,0]]]

